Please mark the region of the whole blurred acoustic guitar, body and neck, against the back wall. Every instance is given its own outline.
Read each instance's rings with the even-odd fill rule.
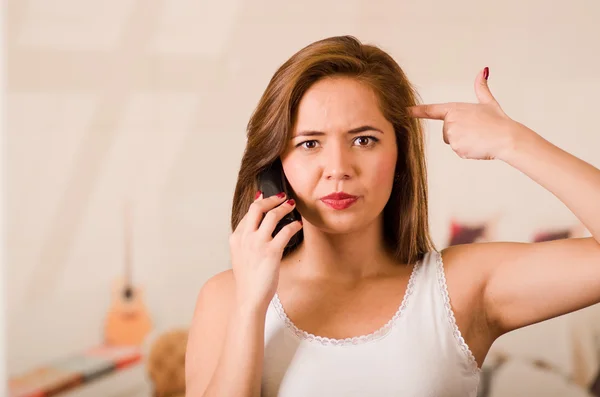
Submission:
[[[140,346],[152,330],[152,320],[144,303],[143,291],[132,282],[131,218],[131,207],[126,204],[124,208],[125,275],[115,280],[113,284],[111,306],[104,327],[104,341],[107,345]]]

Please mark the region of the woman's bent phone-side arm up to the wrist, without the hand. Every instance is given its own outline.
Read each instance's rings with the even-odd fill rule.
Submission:
[[[186,397],[258,397],[265,309],[239,304],[233,272],[209,279],[198,296],[186,351]]]

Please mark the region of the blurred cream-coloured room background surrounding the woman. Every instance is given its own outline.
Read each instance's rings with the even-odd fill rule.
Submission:
[[[7,395],[183,395],[198,291],[230,267],[246,123],[275,70],[315,40],[350,34],[378,45],[424,102],[474,101],[475,76],[489,66],[490,88],[512,118],[600,167],[597,0],[8,0],[3,8]],[[460,159],[438,122],[427,133],[438,249],[586,235],[524,175]],[[135,299],[123,302],[128,285]],[[594,306],[498,340],[480,396],[598,396],[599,362]]]

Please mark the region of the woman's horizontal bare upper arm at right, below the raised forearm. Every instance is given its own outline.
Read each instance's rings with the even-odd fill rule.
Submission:
[[[498,335],[600,302],[600,243],[592,237],[468,244],[448,257],[449,271],[483,287],[480,302]]]

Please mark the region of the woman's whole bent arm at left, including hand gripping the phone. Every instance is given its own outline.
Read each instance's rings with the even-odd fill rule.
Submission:
[[[257,192],[229,237],[232,270],[202,287],[186,353],[188,397],[260,396],[267,307],[285,246],[302,228],[292,222],[272,237],[296,206],[285,199],[283,192],[267,198]]]

